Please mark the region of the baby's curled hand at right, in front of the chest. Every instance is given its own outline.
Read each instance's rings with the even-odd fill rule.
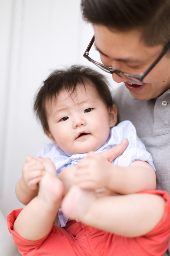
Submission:
[[[111,166],[111,163],[101,155],[90,153],[77,165],[75,184],[81,189],[106,187],[110,177]]]

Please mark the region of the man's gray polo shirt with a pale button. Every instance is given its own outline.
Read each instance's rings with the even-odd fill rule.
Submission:
[[[136,100],[123,84],[112,95],[118,122],[130,120],[152,155],[157,189],[170,194],[170,89],[152,100]]]

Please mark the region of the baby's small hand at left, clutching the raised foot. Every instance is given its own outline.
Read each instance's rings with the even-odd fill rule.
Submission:
[[[33,158],[27,156],[26,161],[22,167],[22,179],[26,187],[31,190],[38,189],[38,183],[45,172],[45,166],[42,158]]]

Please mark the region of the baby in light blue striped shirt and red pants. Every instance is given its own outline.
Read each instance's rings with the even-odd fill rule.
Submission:
[[[153,190],[152,157],[132,123],[115,126],[117,109],[104,76],[80,66],[56,70],[40,88],[34,110],[53,143],[37,158],[26,158],[16,184],[27,205],[8,216],[8,226],[20,253],[162,255],[170,234],[169,197]],[[102,152],[126,138],[126,150],[107,161]],[[62,228],[53,224],[58,211]]]

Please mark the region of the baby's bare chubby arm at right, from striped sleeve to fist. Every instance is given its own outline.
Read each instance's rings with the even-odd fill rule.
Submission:
[[[77,165],[74,182],[82,189],[105,187],[122,195],[156,188],[155,172],[147,162],[136,160],[119,167],[95,153]]]

